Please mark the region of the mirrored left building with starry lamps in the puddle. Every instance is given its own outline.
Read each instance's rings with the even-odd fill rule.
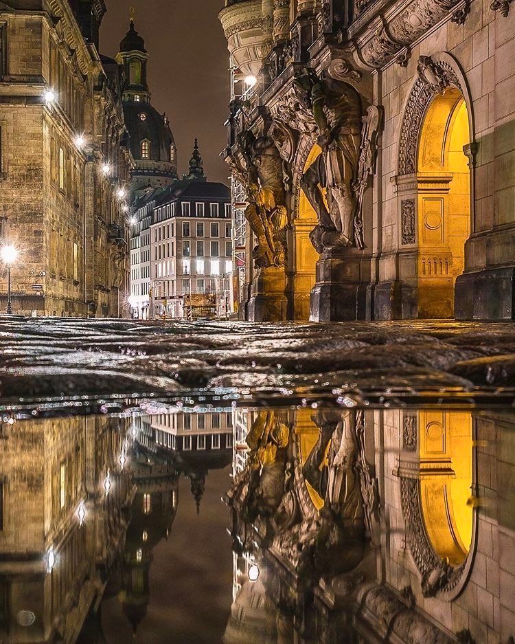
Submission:
[[[38,419],[0,431],[0,641],[75,642],[124,545],[124,424]]]

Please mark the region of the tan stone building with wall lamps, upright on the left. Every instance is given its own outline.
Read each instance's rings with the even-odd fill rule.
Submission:
[[[0,4],[0,237],[14,313],[126,312],[133,159],[122,70],[98,53],[103,0]],[[1,306],[7,275],[1,267]]]

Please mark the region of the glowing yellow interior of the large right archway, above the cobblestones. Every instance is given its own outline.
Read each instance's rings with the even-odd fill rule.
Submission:
[[[417,148],[417,317],[453,318],[470,234],[469,115],[455,87],[428,104]]]

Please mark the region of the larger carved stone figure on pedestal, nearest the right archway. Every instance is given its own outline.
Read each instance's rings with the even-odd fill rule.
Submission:
[[[310,239],[317,252],[356,245],[363,247],[354,226],[358,201],[354,184],[361,143],[361,100],[350,85],[320,78],[309,67],[297,71],[295,93],[316,124],[322,149],[301,179],[301,188],[319,219]]]

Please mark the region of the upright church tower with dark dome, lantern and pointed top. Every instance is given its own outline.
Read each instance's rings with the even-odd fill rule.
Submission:
[[[150,102],[147,82],[148,52],[131,12],[129,30],[119,45],[117,63],[124,68],[124,117],[130,151],[136,162],[130,188],[133,198],[147,188],[165,188],[177,179],[174,136],[168,118]]]

